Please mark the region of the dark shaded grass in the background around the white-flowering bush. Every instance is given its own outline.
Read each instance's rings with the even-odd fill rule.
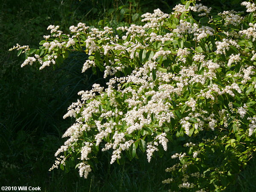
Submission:
[[[157,2],[140,0],[140,7],[134,6],[134,9],[136,12],[152,12],[157,8]],[[160,2],[163,3],[161,9],[165,8],[165,12],[170,12],[175,4],[170,0]],[[121,1],[119,3],[122,6]],[[93,76],[91,71],[81,74],[81,67],[87,55],[73,54],[55,71],[51,68],[38,71],[35,67],[21,69],[23,58],[17,58],[16,52],[7,51],[16,43],[36,47],[42,35],[47,34],[46,28],[49,24],[61,25],[64,31],[79,22],[98,26],[113,24],[116,19],[114,14],[117,12],[112,10],[112,5],[113,3],[103,4],[103,0],[92,0],[89,3],[75,0],[1,1],[2,185],[40,186],[42,191],[46,192],[161,192],[168,189],[161,181],[168,177],[164,170],[172,164],[172,151],[165,153],[163,158],[152,159],[151,163],[148,163],[144,156],[142,160],[135,159],[121,166],[110,165],[110,154],[101,153],[97,169],[90,173],[87,180],[79,177],[77,169],[69,173],[60,169],[49,172],[48,169],[55,160],[55,151],[64,143],[61,136],[74,120],[62,119],[67,107],[79,98],[78,91],[90,89],[94,82],[104,84],[104,80],[100,73],[96,76]],[[227,191],[256,191],[255,167],[256,159],[253,158],[237,177],[235,185],[230,186]]]

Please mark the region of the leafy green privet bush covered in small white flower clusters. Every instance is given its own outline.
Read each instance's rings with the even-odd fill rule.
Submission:
[[[82,72],[92,67],[110,76],[107,88],[80,91],[68,108],[64,118],[76,122],[50,170],[78,167],[87,178],[99,150],[112,152],[110,163],[141,152],[150,162],[183,140],[163,178],[171,191],[220,191],[235,180],[256,150],[256,5],[211,15],[195,0],[182,3],[117,31],[79,23],[63,34],[49,26],[39,49],[13,48],[25,52],[21,67],[59,65],[78,51],[90,55]]]

